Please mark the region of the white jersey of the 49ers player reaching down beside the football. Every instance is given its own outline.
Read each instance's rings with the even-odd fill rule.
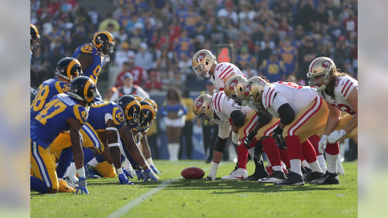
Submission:
[[[217,115],[217,118],[214,118],[214,120],[215,123],[219,126],[220,133],[222,129],[230,128],[230,125],[232,125],[232,119],[230,118],[230,114],[232,114],[233,111],[238,111],[239,109],[232,107],[233,99],[228,100],[225,95],[225,92],[223,91],[214,93],[212,101],[213,111]],[[244,116],[246,116],[251,110],[252,109],[248,106],[241,107],[241,112],[244,114]],[[229,132],[227,132],[228,137],[229,133],[230,129]]]

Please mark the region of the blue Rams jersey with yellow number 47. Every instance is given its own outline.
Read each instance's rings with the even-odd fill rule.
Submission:
[[[88,111],[64,93],[55,95],[36,115],[31,125],[31,139],[46,149],[59,133],[70,130],[70,125],[66,122],[69,118],[76,119],[83,125],[88,119]]]

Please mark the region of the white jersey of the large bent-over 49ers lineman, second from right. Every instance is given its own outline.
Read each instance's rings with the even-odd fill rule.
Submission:
[[[282,93],[282,96],[286,102],[281,104],[277,103],[274,97],[276,93]],[[310,104],[315,98],[318,97],[318,94],[314,92],[309,86],[300,86],[296,83],[286,83],[286,82],[276,82],[266,88],[264,88],[262,101],[265,109],[268,109],[272,116],[279,118],[279,113],[277,110],[282,104],[288,103],[292,109],[294,109],[295,114],[300,111],[300,109],[306,107]]]

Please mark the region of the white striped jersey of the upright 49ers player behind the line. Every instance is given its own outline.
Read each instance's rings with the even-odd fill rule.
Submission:
[[[225,85],[223,80],[230,76],[230,74],[232,74],[233,72],[236,73],[235,75],[244,76],[244,74],[241,73],[241,70],[234,64],[222,62],[216,65],[214,74],[211,78],[213,79],[214,84],[220,91],[223,91],[223,86]]]

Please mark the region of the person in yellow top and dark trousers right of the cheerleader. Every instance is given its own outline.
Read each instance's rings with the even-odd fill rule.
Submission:
[[[182,159],[183,156],[183,142],[186,145],[186,157],[191,159],[192,153],[192,135],[193,135],[193,122],[194,122],[194,113],[192,111],[192,106],[194,104],[193,99],[190,97],[189,90],[185,90],[182,95],[182,103],[187,108],[186,121],[185,125],[182,128],[182,134],[180,135],[180,149],[179,149],[179,159]]]

